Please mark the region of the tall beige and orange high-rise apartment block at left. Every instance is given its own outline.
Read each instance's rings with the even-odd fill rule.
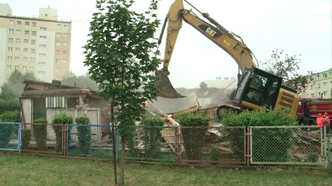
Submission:
[[[40,8],[38,18],[14,16],[8,4],[0,10],[0,85],[15,69],[45,82],[69,75],[71,22],[58,21],[56,9]]]

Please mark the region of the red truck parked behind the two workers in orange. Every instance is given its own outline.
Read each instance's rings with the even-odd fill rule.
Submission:
[[[298,103],[297,116],[298,123],[304,125],[317,125],[316,118],[318,114],[324,115],[327,112],[329,118],[332,118],[332,101],[323,98],[301,98]]]

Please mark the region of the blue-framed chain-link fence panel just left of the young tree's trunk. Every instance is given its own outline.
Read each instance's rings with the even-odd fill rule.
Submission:
[[[66,142],[67,155],[113,157],[111,125],[67,124]]]

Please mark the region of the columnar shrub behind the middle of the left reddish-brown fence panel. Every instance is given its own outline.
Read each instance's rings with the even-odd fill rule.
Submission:
[[[36,124],[46,124],[47,120],[43,117],[35,119],[34,123]],[[47,149],[46,140],[47,140],[47,125],[33,125],[33,137],[37,143],[38,150]]]

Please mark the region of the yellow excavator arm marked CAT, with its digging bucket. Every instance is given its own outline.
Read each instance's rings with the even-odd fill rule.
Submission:
[[[165,55],[164,59],[161,60],[161,62],[163,62],[163,69],[156,72],[156,74],[159,74],[157,86],[158,90],[160,90],[160,93],[158,94],[159,96],[166,98],[183,97],[175,91],[167,77],[167,75],[169,75],[168,66],[183,21],[193,26],[208,39],[214,42],[217,46],[232,56],[232,58],[238,64],[239,70],[241,70],[241,72],[243,72],[246,68],[256,67],[253,60],[253,54],[243,42],[241,37],[226,30],[219,23],[210,18],[208,14],[203,13],[202,16],[206,18],[211,24],[199,18],[192,10],[185,10],[183,6],[183,0],[176,0],[171,5],[165,19],[165,23],[168,21],[168,26]],[[165,29],[165,23],[161,31],[162,34]],[[161,37],[158,40],[159,44]]]

